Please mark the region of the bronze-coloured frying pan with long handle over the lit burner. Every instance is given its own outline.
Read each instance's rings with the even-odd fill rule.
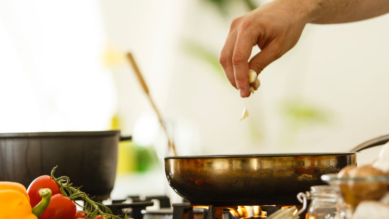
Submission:
[[[300,205],[296,194],[322,185],[320,176],[357,164],[357,152],[389,141],[389,134],[352,152],[165,157],[170,187],[191,205]]]

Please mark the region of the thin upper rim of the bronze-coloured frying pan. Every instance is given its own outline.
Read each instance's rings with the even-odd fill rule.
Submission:
[[[164,159],[180,159],[180,158],[230,158],[230,157],[295,157],[295,156],[342,156],[353,155],[357,152],[331,152],[331,153],[275,153],[275,154],[235,154],[235,155],[201,155],[201,156],[164,156]]]

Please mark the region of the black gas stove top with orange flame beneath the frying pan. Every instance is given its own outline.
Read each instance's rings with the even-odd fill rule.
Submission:
[[[158,204],[159,203],[159,206]],[[288,206],[192,206],[187,202],[170,204],[166,195],[146,196],[130,195],[126,200],[112,200],[106,205],[113,214],[127,212],[134,219],[248,219],[266,218],[279,209]],[[301,214],[300,218],[305,218]]]

